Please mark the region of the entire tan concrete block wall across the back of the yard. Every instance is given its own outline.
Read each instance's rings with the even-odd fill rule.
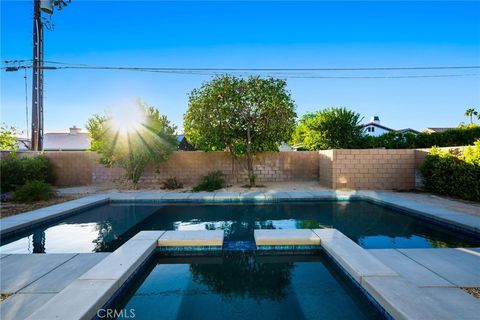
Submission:
[[[443,148],[462,152],[465,147]],[[255,156],[257,182],[319,181],[332,189],[411,190],[421,187],[418,168],[429,149],[339,149],[319,152],[265,152]],[[35,152],[19,152],[32,156]],[[1,158],[8,153],[1,152]],[[78,186],[115,182],[123,169],[106,168],[98,155],[82,151],[47,151],[56,184]],[[222,171],[228,183],[247,182],[245,159],[225,152],[174,152],[158,166],[147,167],[141,182],[158,184],[176,177],[195,184],[211,171]]]

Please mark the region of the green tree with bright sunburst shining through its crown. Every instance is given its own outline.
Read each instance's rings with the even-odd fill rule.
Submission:
[[[91,150],[106,166],[119,166],[136,188],[147,164],[158,164],[177,148],[176,127],[166,116],[138,100],[125,114],[94,115],[87,122]]]

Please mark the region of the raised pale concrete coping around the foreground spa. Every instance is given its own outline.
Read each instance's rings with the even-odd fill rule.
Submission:
[[[367,299],[387,319],[449,319],[452,313],[462,314],[468,319],[478,314],[468,314],[462,309],[477,301],[462,301],[445,305],[424,296],[419,287],[393,271],[368,250],[361,248],[336,229],[305,229],[308,232],[292,233],[289,230],[273,230],[268,235],[266,246],[289,246],[292,240],[303,243],[318,243],[316,246],[349,278]],[[255,230],[255,238],[261,238],[264,230]],[[189,248],[205,245],[217,246],[223,240],[223,231],[218,230],[171,231],[174,237],[162,237],[165,231],[141,231],[109,256],[73,281],[56,296],[47,301],[27,319],[92,319],[99,318],[98,310],[111,307],[111,303],[134,281],[135,275],[155,255],[156,249],[174,246]],[[312,235],[318,237],[312,240]],[[304,237],[302,240],[301,238]],[[188,242],[176,243],[178,238]],[[161,241],[162,240],[162,241]],[[201,240],[201,241],[199,241]],[[170,241],[170,243],[169,243]],[[260,250],[261,244],[256,244]],[[222,250],[218,247],[218,250]],[[435,249],[431,249],[435,250]],[[385,287],[385,283],[387,286]],[[388,285],[391,283],[392,285]],[[81,294],[79,294],[81,292]],[[473,309],[476,305],[473,306]]]

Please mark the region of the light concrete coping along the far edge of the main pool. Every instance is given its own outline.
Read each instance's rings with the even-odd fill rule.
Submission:
[[[56,204],[0,219],[0,238],[7,238],[27,229],[88,208],[106,203],[277,203],[315,201],[367,201],[389,207],[454,231],[480,237],[480,215],[474,216],[439,205],[421,203],[380,191],[291,191],[291,192],[199,192],[199,193],[106,193]]]

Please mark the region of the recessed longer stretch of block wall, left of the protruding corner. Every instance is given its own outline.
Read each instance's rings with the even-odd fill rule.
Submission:
[[[2,157],[8,153],[2,152]],[[18,152],[19,156],[34,156],[36,152]],[[106,168],[98,163],[94,152],[46,151],[54,167],[56,184],[79,186],[114,182],[124,176],[121,168]],[[318,181],[318,152],[265,152],[254,160],[257,181]],[[141,182],[158,183],[176,177],[185,184],[197,183],[211,171],[222,171],[229,183],[247,182],[244,159],[232,160],[226,152],[174,152],[158,166],[146,168]]]

